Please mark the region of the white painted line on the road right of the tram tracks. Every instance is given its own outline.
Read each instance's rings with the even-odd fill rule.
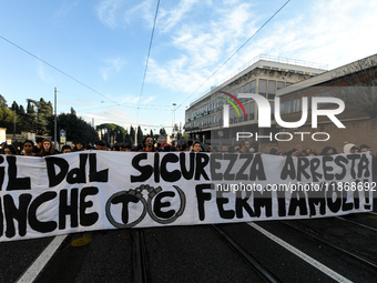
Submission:
[[[306,261],[307,263],[309,263],[310,265],[313,265],[314,267],[316,267],[317,270],[322,271],[323,273],[325,273],[326,275],[328,275],[329,277],[334,279],[337,282],[347,282],[347,283],[351,283],[350,280],[342,276],[339,273],[328,269],[326,265],[322,264],[320,262],[314,260],[313,257],[310,257],[309,255],[303,253],[302,251],[297,250],[296,247],[294,247],[293,245],[288,244],[287,242],[283,241],[282,239],[275,236],[274,234],[269,233],[268,231],[264,230],[263,228],[261,228],[259,225],[251,222],[247,223],[248,225],[251,225],[252,228],[254,228],[255,230],[259,231],[262,234],[264,234],[265,236],[269,237],[271,240],[273,240],[275,243],[282,245],[284,249],[288,250],[289,252],[292,252],[293,254],[297,255],[298,257],[300,257],[302,260]]]

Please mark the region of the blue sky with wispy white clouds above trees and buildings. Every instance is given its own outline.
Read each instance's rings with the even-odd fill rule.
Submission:
[[[26,107],[57,88],[58,113],[170,132],[259,54],[330,70],[377,53],[377,1],[292,0],[217,70],[286,2],[161,0],[144,78],[157,0],[0,0],[0,94]]]

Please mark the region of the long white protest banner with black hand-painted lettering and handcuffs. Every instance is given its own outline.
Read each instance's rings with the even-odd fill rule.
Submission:
[[[160,152],[151,137],[131,153],[101,146],[0,155],[0,241],[373,209],[370,152],[297,158],[244,152],[244,144],[240,153],[207,153],[196,142],[190,152]]]

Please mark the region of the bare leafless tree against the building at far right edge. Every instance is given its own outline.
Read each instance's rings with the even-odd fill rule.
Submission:
[[[342,98],[358,105],[370,118],[377,118],[377,55],[358,60],[336,73]]]

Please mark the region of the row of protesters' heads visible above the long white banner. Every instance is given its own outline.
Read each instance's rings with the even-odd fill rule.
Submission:
[[[60,153],[70,153],[75,151],[86,151],[86,150],[102,150],[102,151],[126,151],[126,152],[176,152],[176,151],[193,151],[193,152],[220,152],[220,153],[253,153],[257,152],[251,145],[249,141],[244,140],[236,145],[222,145],[222,146],[208,146],[204,145],[198,141],[188,140],[186,143],[157,143],[153,137],[145,137],[139,145],[132,145],[130,143],[121,143],[110,145],[103,140],[94,143],[94,145],[85,145],[82,142],[77,142],[71,145],[62,145],[59,151],[55,149],[53,142],[49,139],[38,139],[34,144],[33,141],[27,140],[21,146],[13,146],[1,143],[1,154],[13,154],[13,155],[26,155],[26,156],[48,156]],[[358,153],[370,151],[370,146],[367,144],[361,144],[357,146],[356,144],[347,144],[344,148],[345,153]],[[262,153],[262,152],[261,152]],[[274,155],[282,156],[315,156],[315,155],[332,155],[339,153],[335,148],[326,145],[319,152],[316,149],[306,148],[303,150],[292,149],[287,152],[281,152],[277,148],[271,148],[268,152],[263,152]]]

